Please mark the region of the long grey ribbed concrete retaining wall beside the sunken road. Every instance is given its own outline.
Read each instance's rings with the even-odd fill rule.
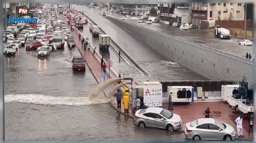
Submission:
[[[254,68],[251,60],[135,23],[113,17],[106,18],[167,59],[208,79],[241,81],[246,77],[248,83],[252,84]]]

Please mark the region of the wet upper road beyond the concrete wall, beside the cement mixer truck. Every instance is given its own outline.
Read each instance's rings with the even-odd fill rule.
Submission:
[[[195,43],[200,43],[209,47],[213,47],[215,49],[232,53],[234,55],[239,55],[244,58],[247,52],[252,54],[252,46],[244,46],[238,44],[243,39],[232,37],[230,40],[219,40],[219,38],[214,37],[213,30],[180,30],[179,27],[173,27],[171,25],[165,25],[163,23],[139,23],[139,19],[137,17],[125,18],[124,15],[117,13],[113,13],[113,15],[111,13],[108,16],[115,17],[118,19],[124,18],[125,21],[129,21],[153,30],[178,36],[180,38],[184,38]]]

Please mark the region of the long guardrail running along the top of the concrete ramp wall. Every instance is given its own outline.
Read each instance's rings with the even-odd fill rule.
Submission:
[[[163,36],[166,36],[166,37],[169,37],[169,38],[173,38],[174,40],[176,41],[179,41],[179,42],[182,42],[182,43],[186,43],[188,45],[192,45],[194,47],[197,47],[197,48],[200,48],[200,49],[203,49],[203,50],[206,50],[206,51],[210,51],[210,52],[213,52],[213,53],[216,53],[218,55],[222,55],[222,56],[226,56],[228,58],[231,58],[231,59],[234,59],[234,60],[238,60],[240,62],[244,62],[246,64],[250,64],[250,65],[253,65],[253,60],[248,60],[246,58],[243,58],[243,57],[240,57],[238,55],[234,55],[232,53],[228,53],[226,51],[221,51],[219,49],[215,49],[213,47],[208,47],[206,45],[202,45],[202,44],[199,44],[199,43],[195,43],[193,41],[189,41],[187,39],[183,39],[183,38],[180,38],[180,37],[177,37],[177,36],[173,36],[171,34],[167,34],[167,33],[164,33],[164,32],[160,32],[160,31],[157,31],[157,30],[154,30],[154,29],[151,29],[151,28],[148,28],[148,27],[145,27],[145,26],[141,26],[141,25],[137,25],[135,23],[132,23],[132,22],[129,22],[129,21],[122,21],[121,19],[117,19],[115,17],[111,17],[111,16],[106,16],[108,18],[111,18],[111,19],[115,19],[115,20],[118,20],[118,21],[121,21],[121,22],[124,22],[124,23],[128,23],[130,25],[133,25],[133,26],[136,26],[138,28],[142,28],[144,30],[147,30],[147,31],[150,31],[150,32],[155,32],[155,33],[158,33],[158,34],[161,34]]]

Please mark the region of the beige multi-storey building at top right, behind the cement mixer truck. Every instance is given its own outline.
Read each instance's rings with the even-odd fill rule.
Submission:
[[[245,18],[245,3],[191,3],[190,23],[200,29],[215,26],[215,21],[235,20]]]

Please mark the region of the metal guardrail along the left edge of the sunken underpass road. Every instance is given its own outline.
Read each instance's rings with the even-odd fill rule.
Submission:
[[[84,13],[82,13],[82,14],[85,15]],[[88,17],[87,15],[85,15],[85,16],[93,23],[93,25],[98,26],[98,24],[95,23],[90,17]],[[104,34],[107,34],[101,27],[100,27],[100,30]],[[126,56],[126,58],[128,58],[128,60],[130,60],[132,62],[132,64],[134,64],[143,73],[145,73],[146,75],[151,77],[151,75],[144,68],[142,68],[128,53],[126,53],[126,51],[124,51],[124,49],[121,48],[121,46],[119,46],[111,37],[109,39],[115,45],[115,47],[117,47],[117,49],[119,49]]]

